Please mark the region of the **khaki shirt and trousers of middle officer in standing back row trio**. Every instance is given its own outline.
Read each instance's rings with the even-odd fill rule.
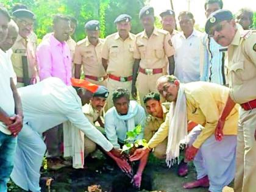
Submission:
[[[123,40],[118,32],[109,35],[102,48],[102,58],[108,60],[107,74],[121,77],[124,80],[130,77],[130,80],[123,82],[108,78],[107,88],[109,91],[108,108],[113,106],[112,93],[115,88],[123,87],[132,90],[132,68],[133,68],[133,51],[134,51],[135,35],[129,33],[129,37]]]

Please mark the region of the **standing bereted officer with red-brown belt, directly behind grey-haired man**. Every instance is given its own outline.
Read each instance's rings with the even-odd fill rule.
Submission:
[[[174,49],[169,32],[154,27],[153,7],[143,7],[139,18],[144,30],[136,35],[135,40],[132,96],[137,98],[138,88],[140,99],[143,99],[149,92],[157,91],[155,82],[166,74],[166,57],[172,68],[170,73],[174,73]]]

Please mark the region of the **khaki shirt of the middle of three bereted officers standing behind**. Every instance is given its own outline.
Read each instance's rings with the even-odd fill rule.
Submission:
[[[132,76],[135,35],[123,40],[118,32],[108,35],[102,48],[102,58],[108,60],[107,73],[118,77]]]

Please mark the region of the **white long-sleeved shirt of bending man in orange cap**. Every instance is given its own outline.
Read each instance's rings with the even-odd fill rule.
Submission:
[[[99,144],[105,151],[113,145],[94,127],[82,111],[82,102],[71,86],[57,77],[49,77],[38,84],[18,88],[23,106],[24,124],[43,133],[65,121],[70,121]]]

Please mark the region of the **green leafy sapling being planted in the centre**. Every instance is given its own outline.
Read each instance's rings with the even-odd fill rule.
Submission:
[[[136,126],[133,130],[126,133],[126,140],[124,140],[122,152],[129,151],[132,148],[138,148],[139,146],[148,147],[148,143],[145,139],[137,140],[140,133],[141,125]]]

